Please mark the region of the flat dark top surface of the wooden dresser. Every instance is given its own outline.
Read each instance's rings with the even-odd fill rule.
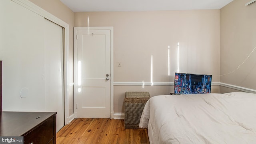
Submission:
[[[22,136],[56,112],[2,112],[0,136]]]

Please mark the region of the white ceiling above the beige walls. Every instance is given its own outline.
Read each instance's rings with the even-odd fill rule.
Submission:
[[[73,12],[207,10],[233,0],[60,0]]]

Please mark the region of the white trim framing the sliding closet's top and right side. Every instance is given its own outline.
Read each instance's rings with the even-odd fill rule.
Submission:
[[[50,14],[49,12],[47,12],[46,10],[40,8],[39,6],[37,6],[36,4],[30,2],[29,0],[12,0],[13,2],[23,6],[24,8],[27,8],[28,10],[31,10],[32,12],[58,24],[59,26],[62,26],[65,29],[65,125],[68,124],[69,117],[72,116],[68,116],[69,112],[68,112],[68,64],[69,64],[69,24],[67,24],[66,22],[60,20],[59,18],[57,18],[56,16]]]

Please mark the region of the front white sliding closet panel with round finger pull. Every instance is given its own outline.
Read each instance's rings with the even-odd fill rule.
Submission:
[[[44,18],[1,0],[3,111],[44,110]]]

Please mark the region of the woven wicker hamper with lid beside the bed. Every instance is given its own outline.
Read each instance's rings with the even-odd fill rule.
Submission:
[[[149,92],[125,92],[124,128],[139,128],[140,117],[149,98]]]

